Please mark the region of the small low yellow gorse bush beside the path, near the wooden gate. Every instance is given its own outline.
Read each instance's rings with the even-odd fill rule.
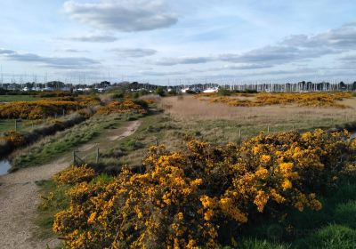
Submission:
[[[56,173],[53,181],[59,184],[76,184],[83,181],[91,181],[96,176],[94,170],[87,165],[72,165],[69,169]]]

